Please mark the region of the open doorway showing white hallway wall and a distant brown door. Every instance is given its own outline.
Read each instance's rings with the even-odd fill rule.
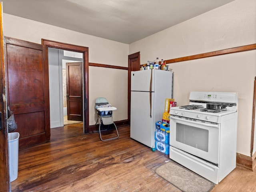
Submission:
[[[48,48],[48,59],[50,127],[83,122],[83,54]]]

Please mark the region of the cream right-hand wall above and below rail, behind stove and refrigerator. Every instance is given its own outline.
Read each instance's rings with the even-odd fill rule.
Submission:
[[[147,60],[172,59],[256,43],[256,1],[236,0],[129,45]],[[250,156],[256,51],[170,64],[174,99],[187,104],[190,91],[238,92],[237,152]],[[200,75],[196,73],[199,72]]]

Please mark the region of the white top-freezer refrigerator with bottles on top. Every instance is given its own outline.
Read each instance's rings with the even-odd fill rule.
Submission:
[[[173,72],[141,70],[131,72],[130,137],[155,148],[155,123],[162,120],[165,99],[172,96]]]

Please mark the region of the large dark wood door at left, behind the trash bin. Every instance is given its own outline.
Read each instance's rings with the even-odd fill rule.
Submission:
[[[50,141],[47,46],[5,37],[7,103],[20,133],[19,150]]]

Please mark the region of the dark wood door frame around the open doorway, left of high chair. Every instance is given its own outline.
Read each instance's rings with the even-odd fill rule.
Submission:
[[[84,128],[83,132],[84,134],[89,133],[89,59],[88,59],[88,52],[89,48],[84,46],[78,46],[78,45],[72,45],[72,44],[66,44],[62,42],[56,42],[52,40],[46,40],[42,39],[42,44],[46,45],[51,48],[57,48],[57,49],[64,49],[69,51],[75,51],[75,52],[82,52],[84,56],[84,79],[83,79],[83,85],[84,85]]]

